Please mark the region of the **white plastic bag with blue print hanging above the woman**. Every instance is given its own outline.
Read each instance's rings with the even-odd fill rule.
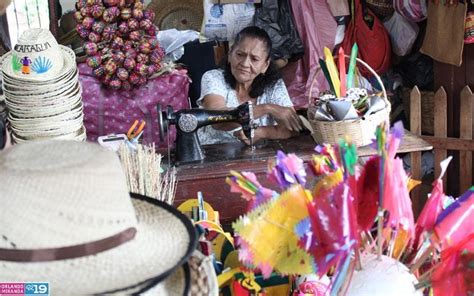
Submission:
[[[230,41],[243,28],[253,25],[254,4],[213,4],[203,0],[204,17],[201,27],[201,42]]]

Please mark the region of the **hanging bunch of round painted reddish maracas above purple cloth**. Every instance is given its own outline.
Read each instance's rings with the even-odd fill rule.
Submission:
[[[79,0],[74,16],[87,65],[104,85],[128,90],[160,71],[155,13],[140,0]]]

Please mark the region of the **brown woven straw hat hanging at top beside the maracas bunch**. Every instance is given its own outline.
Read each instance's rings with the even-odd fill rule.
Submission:
[[[152,0],[147,7],[155,12],[155,25],[160,30],[201,30],[204,8],[199,0]]]

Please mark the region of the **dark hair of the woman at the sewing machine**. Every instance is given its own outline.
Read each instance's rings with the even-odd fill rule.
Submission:
[[[268,69],[265,72],[265,74],[259,74],[257,77],[255,77],[254,81],[252,82],[252,85],[250,86],[250,92],[249,92],[250,97],[257,98],[261,96],[267,88],[273,87],[273,85],[275,85],[278,79],[281,78],[281,75],[271,59],[272,40],[270,39],[270,36],[268,36],[267,32],[265,32],[265,30],[256,26],[244,28],[235,37],[234,44],[232,45],[232,48],[230,49],[230,51],[232,52],[234,47],[238,45],[245,38],[254,38],[254,39],[263,41],[263,43],[266,46],[266,52],[268,54],[267,59],[270,60],[270,65],[268,66]],[[235,89],[236,80],[235,80],[234,75],[232,75],[230,63],[228,62],[227,57],[223,59],[221,66],[224,69],[225,81],[233,89]]]

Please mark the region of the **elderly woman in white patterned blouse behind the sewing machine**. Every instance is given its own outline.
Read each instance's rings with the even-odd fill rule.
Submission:
[[[254,104],[259,127],[255,141],[285,139],[302,129],[283,80],[270,56],[272,41],[258,27],[247,27],[235,38],[223,69],[206,72],[197,101],[209,110],[233,109],[245,102]],[[236,123],[215,124],[199,130],[201,144],[249,143]]]

